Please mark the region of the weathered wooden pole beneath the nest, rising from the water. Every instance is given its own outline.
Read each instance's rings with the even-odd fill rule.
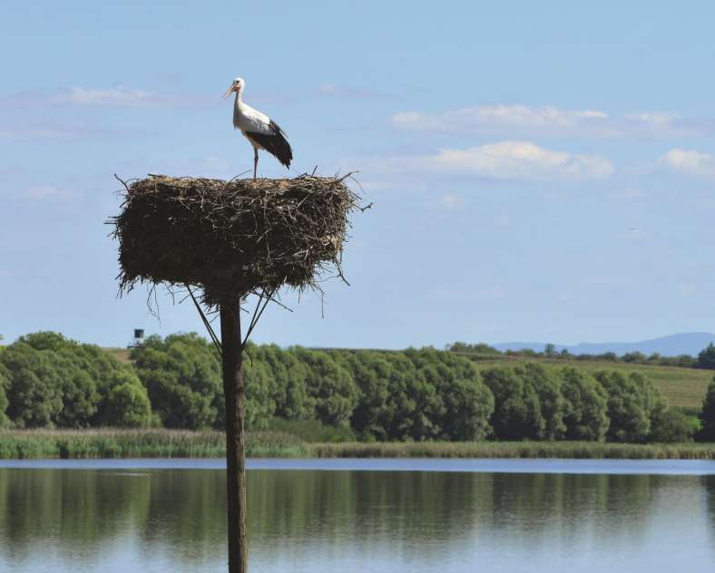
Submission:
[[[238,298],[220,305],[223,397],[226,403],[226,485],[228,491],[229,573],[246,573],[246,437],[243,345]]]

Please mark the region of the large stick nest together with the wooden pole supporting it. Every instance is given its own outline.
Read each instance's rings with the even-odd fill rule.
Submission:
[[[246,443],[243,348],[282,286],[319,290],[340,268],[348,215],[359,198],[345,180],[210,180],[152,175],[124,184],[119,240],[120,292],[146,283],[186,289],[221,356],[226,423],[230,573],[246,573]],[[122,181],[123,183],[123,181]],[[194,297],[220,315],[220,341]],[[255,295],[241,332],[241,307]]]

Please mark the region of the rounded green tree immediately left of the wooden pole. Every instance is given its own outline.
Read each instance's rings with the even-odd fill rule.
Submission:
[[[154,410],[167,428],[216,424],[222,397],[219,358],[199,335],[151,336],[132,361]]]

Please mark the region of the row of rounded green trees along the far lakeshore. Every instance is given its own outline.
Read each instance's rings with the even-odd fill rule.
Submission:
[[[220,360],[199,335],[149,337],[122,364],[42,332],[0,349],[0,425],[220,428]],[[455,352],[249,345],[247,423],[318,421],[365,441],[684,442],[694,428],[640,373],[521,364]],[[715,383],[698,437],[715,440]]]

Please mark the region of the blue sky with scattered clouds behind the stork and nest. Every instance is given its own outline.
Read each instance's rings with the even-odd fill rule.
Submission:
[[[113,179],[230,178],[220,94],[289,134],[291,174],[359,170],[351,286],[279,345],[637,340],[715,330],[709,2],[5,2],[0,333],[201,331],[117,298]],[[283,176],[263,156],[264,176]]]

